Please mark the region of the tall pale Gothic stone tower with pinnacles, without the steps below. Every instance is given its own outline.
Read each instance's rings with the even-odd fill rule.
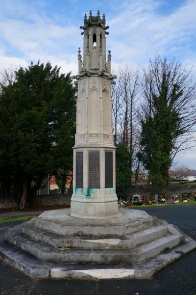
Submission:
[[[106,60],[105,15],[85,15],[83,61],[78,51],[77,118],[73,147],[71,215],[81,218],[117,216],[115,146],[112,133],[110,51]]]

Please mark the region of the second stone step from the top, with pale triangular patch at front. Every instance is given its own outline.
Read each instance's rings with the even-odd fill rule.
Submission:
[[[30,220],[23,224],[21,226],[22,234],[25,237],[42,242],[53,248],[134,248],[139,244],[153,241],[168,234],[168,227],[159,225],[124,236],[63,236],[38,228],[34,224],[34,220]]]

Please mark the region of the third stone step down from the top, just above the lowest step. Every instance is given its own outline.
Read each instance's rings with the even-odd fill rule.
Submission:
[[[183,241],[176,231],[155,241],[142,244],[133,249],[54,249],[38,241],[32,241],[13,228],[5,235],[5,240],[26,253],[44,262],[55,263],[139,263],[171,249]]]

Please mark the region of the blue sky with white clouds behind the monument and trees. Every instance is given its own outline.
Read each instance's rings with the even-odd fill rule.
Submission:
[[[103,13],[112,69],[147,66],[149,57],[175,57],[196,75],[196,0],[0,0],[0,71],[38,60],[77,74],[84,14]],[[196,169],[196,150],[175,158]]]

